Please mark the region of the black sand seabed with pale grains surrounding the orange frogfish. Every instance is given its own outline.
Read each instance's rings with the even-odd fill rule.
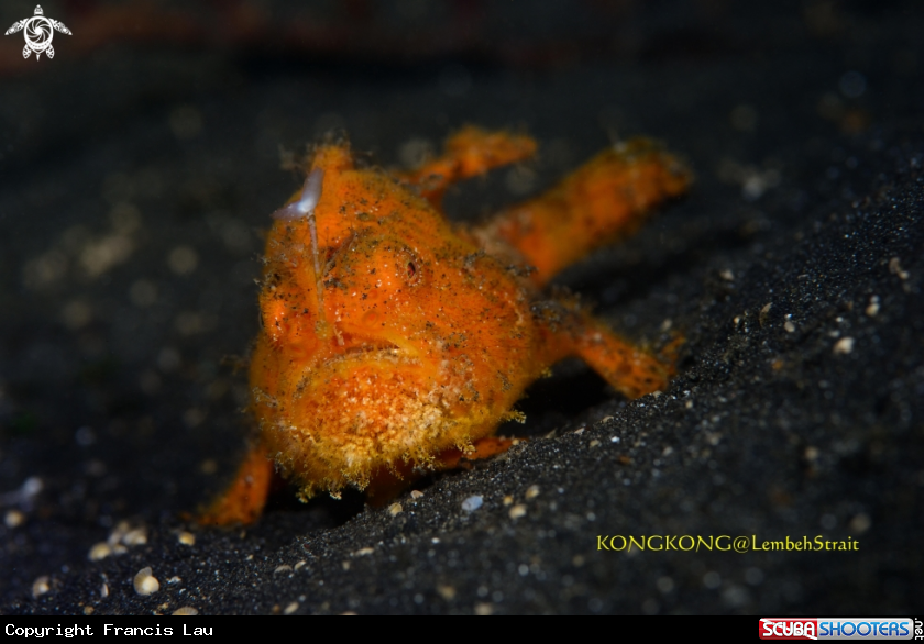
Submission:
[[[831,32],[811,29],[816,4]],[[0,612],[920,610],[924,16],[773,7],[639,10],[634,55],[540,68],[68,59],[62,42],[0,79]],[[670,389],[626,402],[566,363],[521,404],[532,440],[422,481],[397,514],[283,495],[248,530],[185,523],[249,435],[227,358],[256,331],[267,214],[299,182],[279,146],[343,127],[391,165],[469,122],[525,126],[546,154],[462,187],[455,216],[548,186],[608,130],[689,160],[689,198],[559,280],[638,341],[682,332]],[[125,552],[89,560],[113,534]],[[748,552],[607,552],[604,535]],[[788,537],[856,546],[754,552]]]

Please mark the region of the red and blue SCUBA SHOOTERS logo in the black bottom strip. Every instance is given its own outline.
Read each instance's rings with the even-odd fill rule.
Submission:
[[[921,640],[910,618],[761,618],[761,640]]]

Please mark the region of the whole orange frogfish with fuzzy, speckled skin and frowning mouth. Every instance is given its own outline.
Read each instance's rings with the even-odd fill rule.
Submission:
[[[260,457],[248,458],[204,522],[255,519],[265,497],[242,495],[240,481],[264,480],[273,462],[302,499],[370,484],[381,498],[415,468],[506,449],[493,437],[497,425],[569,356],[630,398],[666,387],[672,365],[541,287],[683,193],[690,173],[635,140],[483,224],[446,220],[450,184],[535,149],[527,136],[466,127],[441,157],[397,175],[355,167],[344,144],[317,148],[314,220],[277,220],[266,241],[250,371]]]

